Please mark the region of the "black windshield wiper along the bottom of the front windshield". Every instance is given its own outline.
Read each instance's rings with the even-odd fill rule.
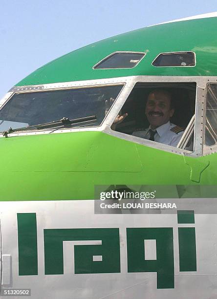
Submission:
[[[58,121],[53,121],[49,123],[44,123],[44,124],[39,124],[39,125],[34,125],[34,126],[29,126],[29,127],[23,127],[23,128],[9,128],[7,131],[3,132],[3,136],[7,137],[8,134],[14,133],[14,132],[20,132],[20,131],[28,131],[32,129],[45,129],[45,128],[62,128],[63,126],[66,128],[70,128],[71,125],[76,125],[80,123],[85,123],[85,122],[91,122],[96,120],[96,116],[87,116],[87,117],[81,117],[81,118],[76,118],[76,119],[68,119],[66,117],[58,120]]]

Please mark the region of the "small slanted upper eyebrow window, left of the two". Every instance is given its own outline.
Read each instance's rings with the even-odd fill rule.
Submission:
[[[94,69],[106,68],[132,68],[136,66],[146,53],[141,52],[115,52],[94,65]]]

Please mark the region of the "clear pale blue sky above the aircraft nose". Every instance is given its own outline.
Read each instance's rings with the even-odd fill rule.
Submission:
[[[0,98],[43,64],[152,24],[217,11],[217,0],[0,0]]]

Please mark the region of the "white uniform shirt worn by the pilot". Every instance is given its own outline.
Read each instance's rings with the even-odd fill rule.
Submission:
[[[175,133],[174,131],[171,130],[174,127],[179,128],[179,129],[177,129],[177,131],[179,131],[178,133]],[[140,138],[149,139],[150,138],[150,129],[151,129],[151,127],[147,128],[145,130],[141,130],[141,131],[134,131],[134,132],[132,132],[132,135],[140,137]],[[168,123],[156,128],[156,133],[154,135],[154,141],[176,147],[183,135],[183,132],[184,132],[184,130],[182,130],[180,132],[180,129],[181,129],[180,127],[172,124],[169,121]],[[154,130],[152,130],[152,131],[154,131]]]

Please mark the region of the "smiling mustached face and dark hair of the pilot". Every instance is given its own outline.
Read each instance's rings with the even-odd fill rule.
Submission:
[[[163,92],[149,94],[146,104],[146,116],[152,129],[166,124],[174,114],[170,108],[170,97]]]

